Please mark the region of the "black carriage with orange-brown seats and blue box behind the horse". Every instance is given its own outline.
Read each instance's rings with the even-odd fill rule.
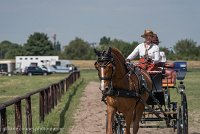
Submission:
[[[143,112],[141,128],[173,128],[178,134],[188,133],[188,109],[183,80],[187,72],[186,62],[164,63],[162,71],[149,72],[153,81],[153,91]],[[179,82],[176,84],[176,82]],[[173,102],[170,90],[177,90],[180,102]],[[154,114],[155,116],[152,116]],[[145,125],[148,121],[165,121],[161,125]]]

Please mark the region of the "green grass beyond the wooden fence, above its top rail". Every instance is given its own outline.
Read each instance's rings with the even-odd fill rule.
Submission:
[[[12,99],[29,91],[47,87],[67,77],[68,74],[53,74],[48,76],[1,76],[0,77],[0,103]]]

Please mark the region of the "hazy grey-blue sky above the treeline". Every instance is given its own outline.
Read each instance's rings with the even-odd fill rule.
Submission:
[[[200,0],[2,0],[0,42],[24,44],[34,32],[54,34],[62,45],[75,37],[90,43],[103,36],[142,42],[145,29],[161,46],[192,39],[200,44]]]

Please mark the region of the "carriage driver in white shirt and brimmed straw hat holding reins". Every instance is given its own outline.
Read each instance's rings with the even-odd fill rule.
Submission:
[[[145,41],[133,50],[126,61],[130,62],[139,55],[140,60],[137,66],[147,71],[157,70],[157,63],[160,61],[158,36],[151,30],[145,30],[141,37],[143,37]]]

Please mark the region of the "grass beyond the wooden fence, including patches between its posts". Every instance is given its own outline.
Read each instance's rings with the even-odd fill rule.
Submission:
[[[2,76],[0,77],[0,103],[11,100],[17,96],[24,95],[30,91],[47,87],[51,83],[56,83],[67,77],[68,74],[53,74],[48,76]],[[39,95],[33,95],[32,101],[32,120],[34,128],[41,128],[43,124],[39,123]],[[8,133],[15,133],[14,129],[14,106],[6,109]],[[25,101],[22,101],[23,128],[25,129]],[[36,132],[38,133],[38,132]]]

